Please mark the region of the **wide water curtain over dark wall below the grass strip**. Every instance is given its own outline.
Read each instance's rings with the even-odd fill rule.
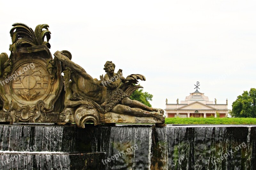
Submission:
[[[248,127],[174,126],[156,136],[163,169],[253,169]]]

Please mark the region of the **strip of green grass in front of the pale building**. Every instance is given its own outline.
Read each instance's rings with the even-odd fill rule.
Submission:
[[[165,118],[165,124],[256,124],[256,118]]]

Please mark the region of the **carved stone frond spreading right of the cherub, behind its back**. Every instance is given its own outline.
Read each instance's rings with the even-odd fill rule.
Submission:
[[[135,90],[143,88],[141,85],[135,85],[138,84],[138,80],[146,81],[146,78],[141,74],[131,74],[119,88],[130,96]]]

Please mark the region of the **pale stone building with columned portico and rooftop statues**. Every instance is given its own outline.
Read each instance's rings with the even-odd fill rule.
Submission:
[[[217,117],[217,113],[220,113],[220,117],[227,117],[228,115],[228,100],[226,104],[216,104],[209,101],[209,98],[204,93],[196,90],[190,93],[186,97],[185,101],[177,100],[177,104],[168,104],[166,100],[166,117],[210,117],[211,115]]]

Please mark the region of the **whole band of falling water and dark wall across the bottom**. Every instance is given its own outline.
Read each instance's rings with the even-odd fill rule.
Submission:
[[[0,169],[256,169],[256,126],[0,125]]]

